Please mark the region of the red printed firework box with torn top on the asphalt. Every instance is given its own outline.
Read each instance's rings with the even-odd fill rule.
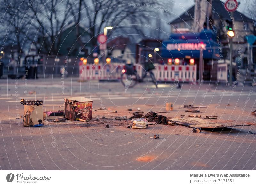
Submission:
[[[92,119],[92,100],[85,97],[65,98],[65,117],[72,121]]]

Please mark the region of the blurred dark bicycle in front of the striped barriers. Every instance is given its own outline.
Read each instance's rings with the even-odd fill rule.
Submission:
[[[140,78],[134,64],[125,64],[124,69],[122,70],[121,73],[121,83],[126,87],[126,88],[132,88],[134,87],[138,82],[141,83],[143,82],[143,79],[147,76],[149,73],[149,76],[152,80],[152,82],[156,85],[157,88],[157,80],[155,78],[154,73],[152,72],[152,68],[145,68],[144,66],[143,71],[142,71],[142,77]]]

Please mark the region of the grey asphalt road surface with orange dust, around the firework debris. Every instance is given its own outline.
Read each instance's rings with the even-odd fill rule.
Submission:
[[[77,78],[0,80],[0,168],[2,170],[255,170],[256,92],[251,85],[137,84],[125,90],[120,82],[78,82]],[[23,127],[20,99],[42,99],[44,111],[63,109],[64,97],[93,100],[89,123],[45,121],[43,127]],[[216,122],[250,124],[202,130],[175,125],[129,129],[139,107],[145,113],[165,111],[167,117],[185,115],[183,105],[202,105],[202,117],[218,114]],[[228,105],[229,104],[229,105]],[[99,110],[106,107],[107,110]],[[111,111],[118,111],[112,113]],[[95,117],[100,119],[95,121]],[[105,128],[109,124],[110,128]],[[249,133],[252,132],[252,133]],[[159,134],[159,139],[152,139]]]

